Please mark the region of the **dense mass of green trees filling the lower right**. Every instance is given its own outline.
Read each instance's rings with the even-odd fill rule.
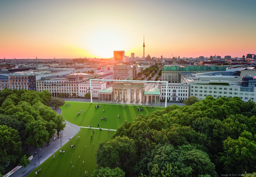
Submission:
[[[256,104],[212,96],[190,106],[168,106],[99,143],[99,171],[122,176],[217,177],[256,172]]]

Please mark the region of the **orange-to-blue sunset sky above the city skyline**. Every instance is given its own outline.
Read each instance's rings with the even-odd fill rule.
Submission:
[[[256,0],[0,0],[0,59],[256,54]]]

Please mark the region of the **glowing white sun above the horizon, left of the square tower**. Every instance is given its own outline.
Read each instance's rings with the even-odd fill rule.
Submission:
[[[111,58],[114,50],[125,50],[125,40],[121,33],[113,29],[94,29],[81,43],[89,55],[97,58]]]

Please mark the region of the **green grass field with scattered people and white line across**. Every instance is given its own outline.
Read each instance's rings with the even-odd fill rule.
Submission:
[[[62,115],[64,119],[70,123],[85,127],[92,125],[92,127],[97,128],[99,123],[99,127],[106,129],[118,129],[124,121],[132,122],[138,114],[147,114],[156,109],[164,109],[128,105],[125,105],[125,108],[121,108],[120,105],[115,104],[101,104],[102,107],[95,108],[96,104],[94,103],[65,102],[65,104],[66,103],[70,103],[71,106],[62,106]],[[137,107],[143,108],[144,111],[138,111]],[[103,109],[105,112],[103,112]],[[80,110],[81,115],[77,115]],[[86,110],[86,112],[84,110]],[[106,121],[100,119],[100,117],[104,116],[107,118]],[[117,118],[117,116],[121,117]],[[92,133],[93,130],[95,133]],[[100,131],[99,129],[81,128],[78,134],[76,134],[76,136],[80,136],[80,140],[74,137],[63,145],[59,150],[65,150],[65,153],[60,153],[59,150],[57,150],[55,152],[55,159],[53,159],[52,156],[40,165],[42,173],[40,172],[37,176],[78,177],[85,176],[85,170],[88,171],[88,176],[90,176],[92,170],[96,168],[95,154],[98,150],[99,142],[109,140],[112,134],[114,134],[114,131],[108,132],[107,130]],[[91,135],[93,136],[93,140],[91,140]],[[75,145],[75,148],[70,148],[70,145]],[[71,160],[72,164],[70,164]],[[85,161],[84,164],[83,161]],[[74,169],[72,165],[74,165]],[[36,170],[38,169],[39,168],[36,168]],[[28,177],[35,176],[36,170],[31,172]]]

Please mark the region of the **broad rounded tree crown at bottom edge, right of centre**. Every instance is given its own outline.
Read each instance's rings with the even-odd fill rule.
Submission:
[[[144,166],[143,164],[147,164]],[[178,148],[170,144],[157,145],[147,153],[137,166],[135,173],[149,176],[192,176],[210,175],[217,177],[209,156],[194,146],[183,145]]]

